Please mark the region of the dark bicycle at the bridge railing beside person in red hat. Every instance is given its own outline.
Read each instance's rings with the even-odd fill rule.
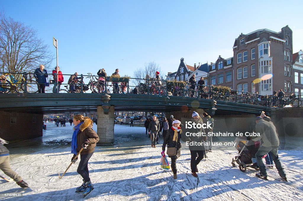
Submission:
[[[149,94],[151,95],[163,95],[165,93],[165,88],[158,84],[156,80],[150,79],[147,84],[140,83],[137,86],[138,94],[147,94],[149,88]]]

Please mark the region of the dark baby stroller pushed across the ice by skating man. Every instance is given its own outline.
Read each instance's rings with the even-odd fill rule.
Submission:
[[[238,156],[232,159],[231,164],[232,166],[236,166],[235,162],[238,163],[239,169],[241,172],[246,172],[247,167],[253,166],[251,158],[255,156],[255,153],[258,151],[260,142],[252,141],[250,139],[247,140],[238,140]],[[255,168],[254,168],[255,169]]]

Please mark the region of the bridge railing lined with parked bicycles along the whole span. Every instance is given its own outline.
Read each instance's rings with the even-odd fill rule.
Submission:
[[[45,82],[38,83],[34,72],[0,72],[0,93],[35,93]],[[216,86],[190,84],[156,79],[138,79],[130,77],[103,77],[92,75],[68,75],[69,80],[57,83],[56,73],[47,74],[49,87],[45,92],[52,93],[122,93],[141,95],[181,96],[192,99],[214,99],[227,102],[253,104],[266,107],[302,106],[302,96],[276,97],[259,95],[231,89],[218,89]],[[73,78],[73,79],[72,79]],[[86,81],[88,80],[88,81]],[[132,82],[129,82],[132,80]],[[85,84],[85,82],[87,84]],[[26,87],[25,87],[26,86]],[[57,89],[59,88],[59,90]]]

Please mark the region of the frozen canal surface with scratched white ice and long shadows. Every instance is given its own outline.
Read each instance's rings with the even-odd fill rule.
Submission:
[[[15,182],[0,180],[0,199],[5,200],[81,200],[75,188],[82,184],[70,163],[72,127],[55,127],[47,123],[43,137],[8,145],[11,166],[28,183],[22,189]],[[96,130],[96,125],[94,124]],[[230,141],[229,139],[220,139]],[[276,180],[276,169],[269,169],[269,180],[255,177],[257,171],[242,173],[233,168],[235,148],[213,147],[208,159],[198,165],[198,178],[191,175],[190,152],[182,142],[181,157],[177,159],[178,179],[170,170],[160,168],[161,144],[151,148],[144,127],[115,125],[115,144],[97,146],[88,163],[95,189],[87,200],[302,200],[303,199],[303,141],[302,138],[281,139],[279,156],[289,183]],[[169,159],[170,162],[170,159]],[[5,176],[3,172],[0,173]],[[5,193],[22,193],[20,197]]]

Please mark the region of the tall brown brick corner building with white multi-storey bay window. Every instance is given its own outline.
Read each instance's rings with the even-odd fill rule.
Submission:
[[[239,35],[234,47],[234,84],[238,91],[271,95],[279,89],[292,92],[292,31],[259,29]]]

